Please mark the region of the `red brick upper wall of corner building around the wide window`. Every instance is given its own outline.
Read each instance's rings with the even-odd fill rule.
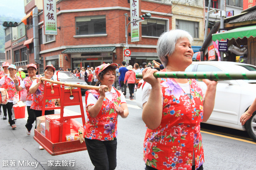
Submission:
[[[142,10],[154,10],[156,6],[160,4],[145,2],[142,1]],[[130,4],[124,0],[72,0],[72,1],[61,1],[57,4],[57,7],[60,7],[60,10],[70,10],[70,9],[83,9],[83,8],[103,8],[110,6],[122,6],[126,8],[130,8]],[[157,8],[155,11],[157,12],[166,12],[170,11],[171,6],[169,5],[161,5],[160,8]],[[63,13],[58,15],[58,35],[56,36],[56,41],[45,44],[43,50],[51,49],[54,47],[60,47],[63,45],[97,45],[97,44],[120,44],[126,43],[125,38],[125,16],[124,14],[130,14],[128,10],[102,10],[102,11],[90,11],[90,12],[72,12],[72,13]],[[75,17],[79,16],[98,16],[98,15],[106,15],[106,37],[81,37],[74,38],[76,35],[76,20]],[[158,16],[156,14],[152,14],[154,17],[158,18],[168,18],[170,20],[169,27],[171,28],[171,17],[170,16]],[[43,20],[43,15],[40,16],[40,21]],[[39,22],[40,22],[39,21]],[[128,21],[126,24],[128,24]],[[130,32],[130,26],[128,27],[128,33]],[[128,36],[129,44],[143,44],[143,45],[156,45],[156,38],[143,38],[142,40],[136,43],[130,42],[130,36]]]

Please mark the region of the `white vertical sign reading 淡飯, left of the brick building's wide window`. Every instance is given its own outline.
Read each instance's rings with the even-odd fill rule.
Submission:
[[[44,0],[45,35],[57,34],[56,0]]]

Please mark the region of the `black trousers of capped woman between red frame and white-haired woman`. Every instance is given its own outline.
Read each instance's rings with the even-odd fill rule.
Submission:
[[[114,170],[116,168],[117,141],[99,141],[84,138],[94,170]]]

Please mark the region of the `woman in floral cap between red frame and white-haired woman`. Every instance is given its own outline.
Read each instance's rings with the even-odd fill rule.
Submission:
[[[128,116],[124,94],[112,87],[117,64],[102,64],[95,70],[99,91],[86,91],[87,120],[84,138],[94,169],[116,168],[117,118]],[[105,92],[104,89],[108,88]]]

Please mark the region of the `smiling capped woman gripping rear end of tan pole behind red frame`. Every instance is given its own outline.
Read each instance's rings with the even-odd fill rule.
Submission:
[[[54,66],[51,65],[47,65],[44,69],[44,77],[41,78],[47,78],[47,79],[51,79],[53,74],[55,72],[55,68]],[[31,87],[29,88],[29,92],[33,95],[33,102],[31,104],[30,109],[34,110],[34,114],[35,114],[35,120],[36,117],[40,117],[42,116],[42,107],[43,107],[43,96],[44,96],[44,82],[41,80],[41,78],[36,79]],[[49,82],[47,82],[49,83]],[[54,100],[46,100],[47,102],[45,103],[45,107],[55,107],[54,104]],[[46,110],[44,115],[52,115],[54,114],[54,110]],[[36,129],[36,127],[35,127]],[[43,149],[41,146],[39,147],[39,149]]]

